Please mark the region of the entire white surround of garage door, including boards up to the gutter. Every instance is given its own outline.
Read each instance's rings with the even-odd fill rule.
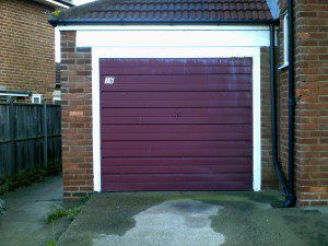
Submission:
[[[253,190],[261,189],[260,48],[269,46],[268,26],[67,26],[59,30],[77,31],[77,47],[92,48],[94,191],[102,191],[102,58],[251,58]]]

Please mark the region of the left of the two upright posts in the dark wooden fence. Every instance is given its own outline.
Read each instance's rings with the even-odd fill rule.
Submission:
[[[10,129],[10,132],[9,132],[9,138],[10,138],[10,164],[12,166],[12,169],[13,173],[12,174],[17,174],[19,171],[17,171],[17,166],[16,166],[16,162],[15,162],[15,159],[16,159],[16,155],[15,155],[15,117],[16,115],[14,114],[14,105],[13,105],[13,102],[11,101],[10,102],[10,105],[9,105],[9,129]]]

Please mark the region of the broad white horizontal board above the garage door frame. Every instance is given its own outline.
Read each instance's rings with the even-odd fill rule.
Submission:
[[[78,47],[259,47],[268,31],[79,31]]]

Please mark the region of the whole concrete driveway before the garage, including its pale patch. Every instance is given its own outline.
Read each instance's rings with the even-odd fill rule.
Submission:
[[[279,208],[278,192],[93,196],[59,246],[328,245],[328,214]]]

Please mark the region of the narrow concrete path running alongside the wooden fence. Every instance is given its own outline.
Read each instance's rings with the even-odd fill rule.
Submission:
[[[58,238],[71,223],[45,224],[55,204],[62,204],[61,176],[1,196],[5,200],[5,214],[0,216],[1,246],[38,246]]]

